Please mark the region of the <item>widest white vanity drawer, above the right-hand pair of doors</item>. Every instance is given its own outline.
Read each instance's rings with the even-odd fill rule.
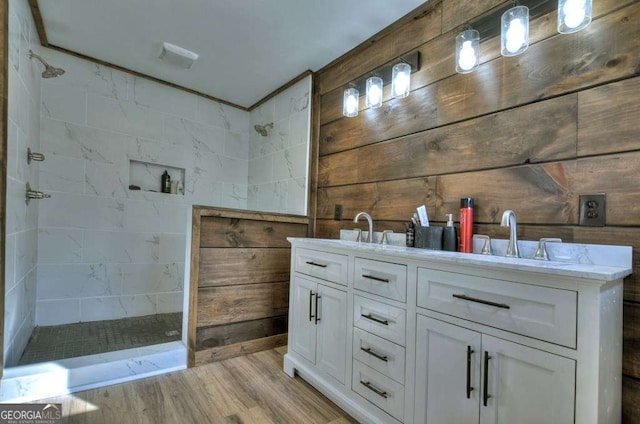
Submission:
[[[576,292],[418,269],[418,306],[576,347]]]

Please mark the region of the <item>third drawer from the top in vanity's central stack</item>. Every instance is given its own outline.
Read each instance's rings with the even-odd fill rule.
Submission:
[[[404,384],[404,348],[402,346],[354,328],[353,358]]]

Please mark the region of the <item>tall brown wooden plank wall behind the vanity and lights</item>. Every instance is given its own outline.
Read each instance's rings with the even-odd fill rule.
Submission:
[[[640,2],[594,0],[594,19],[571,35],[556,12],[531,22],[522,55],[481,42],[481,65],[455,73],[463,25],[508,2],[431,0],[424,12],[317,75],[320,97],[315,233],[338,237],[369,211],[378,230],[404,230],[421,204],[431,219],[476,199],[476,233],[506,238],[513,209],[521,239],[631,245],[625,280],[625,422],[640,422]],[[346,84],[411,51],[421,53],[411,95],[342,117]],[[578,226],[580,194],[606,193],[606,226]],[[334,205],[343,220],[333,220]]]

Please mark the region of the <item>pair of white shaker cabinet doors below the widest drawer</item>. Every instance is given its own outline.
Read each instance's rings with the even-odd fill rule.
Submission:
[[[418,315],[418,423],[574,423],[575,361]]]

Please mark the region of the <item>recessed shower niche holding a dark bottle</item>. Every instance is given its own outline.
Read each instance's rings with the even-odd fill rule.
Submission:
[[[162,193],[162,174],[171,177],[171,193]],[[185,169],[171,165],[129,160],[129,190],[184,196]]]

